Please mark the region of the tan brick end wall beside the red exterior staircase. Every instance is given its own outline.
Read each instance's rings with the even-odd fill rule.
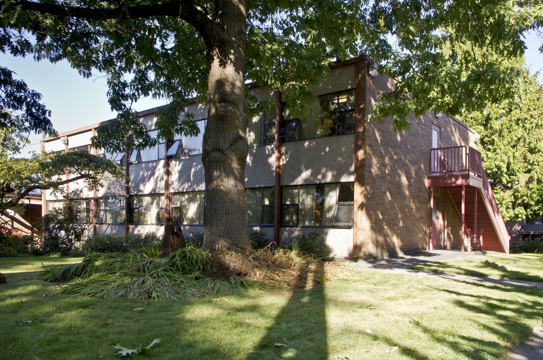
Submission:
[[[377,94],[392,86],[384,76],[373,79],[366,76],[367,114],[371,113]],[[428,249],[431,214],[427,176],[432,124],[441,128],[440,146],[475,146],[473,131],[457,119],[445,115],[437,118],[432,112],[421,117],[411,115],[409,124],[411,130],[399,133],[390,129],[392,119],[361,124],[365,126],[364,189],[358,210],[357,237],[358,256],[362,258],[381,258]],[[444,207],[449,201],[440,203],[440,216],[443,218]],[[460,222],[452,206],[447,206],[449,246],[457,247]]]

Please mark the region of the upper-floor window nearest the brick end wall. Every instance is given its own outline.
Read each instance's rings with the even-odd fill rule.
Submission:
[[[285,128],[289,126],[292,129],[294,125],[289,124],[288,121],[295,119],[287,105],[283,106],[283,118]],[[307,116],[300,118],[297,127],[298,130],[295,128],[294,131],[299,133],[296,139],[300,140],[353,133],[355,131],[355,91],[349,90],[318,97],[317,102],[308,105]]]

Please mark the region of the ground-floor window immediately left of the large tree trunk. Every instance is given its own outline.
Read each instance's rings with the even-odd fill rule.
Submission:
[[[203,225],[205,192],[177,192],[172,194],[172,223],[179,225]]]

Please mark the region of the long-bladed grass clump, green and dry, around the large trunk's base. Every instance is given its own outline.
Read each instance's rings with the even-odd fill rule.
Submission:
[[[62,282],[56,287],[59,293],[148,300],[305,287],[352,275],[352,270],[341,263],[321,262],[292,250],[247,249],[242,255],[253,271],[228,278],[210,276],[211,254],[192,246],[165,258],[159,257],[156,248],[92,254],[79,263],[47,269],[42,278]]]

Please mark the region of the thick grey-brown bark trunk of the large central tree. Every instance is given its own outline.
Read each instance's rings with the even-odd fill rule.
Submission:
[[[245,102],[247,1],[215,3],[220,31],[206,39],[209,110],[202,162],[205,172],[204,248],[249,246],[245,223],[245,163],[248,125]],[[216,23],[217,24],[217,23]]]

